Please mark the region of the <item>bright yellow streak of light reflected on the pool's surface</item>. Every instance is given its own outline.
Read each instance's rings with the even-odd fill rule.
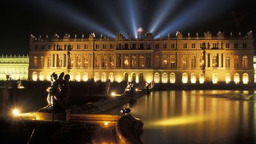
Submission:
[[[164,120],[150,121],[145,123],[145,127],[159,127],[159,126],[177,126],[181,124],[191,124],[198,123],[206,120],[206,116],[183,116],[183,117],[173,117]]]

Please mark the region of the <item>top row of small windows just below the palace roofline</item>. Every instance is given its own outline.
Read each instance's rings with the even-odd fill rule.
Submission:
[[[219,46],[220,45],[220,46]],[[71,49],[73,49],[73,44],[53,44],[53,45],[48,45],[48,50],[51,50],[53,48],[53,50],[67,50],[68,46],[71,47]],[[81,44],[76,44],[76,49],[82,49],[81,48]],[[95,49],[107,49],[107,44],[95,44]],[[35,50],[38,50],[38,45],[34,46]],[[219,43],[213,43],[212,47],[210,47],[209,43],[200,43],[200,48],[201,47],[207,47],[208,49],[213,48],[213,47],[219,47],[219,48],[224,48],[223,47],[223,43],[219,44]],[[110,49],[114,49],[114,44],[110,44],[109,45]],[[140,44],[136,44],[136,43],[132,43],[129,47],[129,44],[125,43],[123,44],[118,44],[116,46],[116,49],[151,49],[151,44],[146,44],[146,47],[144,47],[143,43]],[[159,49],[159,43],[155,44],[155,49]],[[188,48],[188,44],[187,43],[183,43],[183,49],[187,49]],[[225,43],[225,48],[230,48],[230,44],[229,43]],[[233,48],[238,48],[238,43],[233,43]],[[247,48],[247,43],[242,43],[242,48]],[[41,45],[41,50],[45,49],[45,45]],[[88,44],[84,44],[84,49],[88,49]],[[167,43],[162,44],[162,49],[167,49]],[[175,49],[175,44],[171,43],[171,49]],[[196,49],[196,43],[191,43],[191,49]]]

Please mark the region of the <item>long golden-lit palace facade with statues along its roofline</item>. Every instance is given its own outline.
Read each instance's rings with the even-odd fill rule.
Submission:
[[[252,32],[225,37],[204,33],[204,37],[153,39],[30,39],[28,76],[34,81],[49,79],[52,72],[69,73],[72,81],[155,81],[156,83],[248,84],[254,82]]]

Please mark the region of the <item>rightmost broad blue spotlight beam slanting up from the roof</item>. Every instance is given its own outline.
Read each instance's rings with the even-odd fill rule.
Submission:
[[[222,14],[222,12],[228,11],[237,3],[237,1],[232,0],[204,0],[197,2],[186,11],[181,12],[180,15],[177,15],[174,20],[169,21],[169,23],[162,28],[160,33],[156,34],[156,37],[161,36],[161,34],[166,35],[169,31],[181,31],[183,28],[206,23],[207,20],[211,20],[217,15]]]

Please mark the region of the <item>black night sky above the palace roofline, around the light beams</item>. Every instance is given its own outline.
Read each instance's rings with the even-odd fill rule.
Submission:
[[[132,7],[129,7],[126,1],[133,1]],[[220,30],[227,34],[231,31],[234,34],[241,31],[244,35],[252,30],[256,35],[255,6],[252,1],[246,0],[4,0],[1,1],[0,10],[0,55],[27,54],[30,34],[45,37],[46,34],[52,36],[57,33],[62,37],[63,34],[68,33],[71,37],[74,34],[78,34],[78,37],[85,34],[85,37],[88,37],[89,33],[96,31],[95,27],[88,26],[88,21],[94,21],[95,24],[101,25],[112,33],[120,31],[116,25],[121,24],[124,31],[132,33],[130,30],[132,22],[129,19],[131,8],[136,17],[137,27],[142,25],[144,30],[148,31],[152,21],[155,21],[154,15],[158,17],[157,11],[166,9],[163,5],[164,1],[179,2],[175,7],[171,7],[171,4],[167,7],[172,12],[167,12],[167,17],[161,21],[158,30],[169,24],[171,20],[177,20],[175,19],[177,17],[185,20],[187,17],[181,15],[185,12],[188,18],[196,17],[190,20],[196,22],[184,23],[185,28],[180,30],[181,33],[199,32],[203,35],[204,32],[210,31],[215,36]],[[196,15],[186,13],[188,9],[203,1],[210,2],[210,5],[206,6],[209,10],[198,12]],[[200,5],[198,7],[200,8]],[[212,15],[208,16],[207,12]],[[175,36],[175,31],[177,30],[169,32],[171,36]],[[156,32],[159,33],[159,31]],[[100,36],[99,33],[97,34],[97,37]]]

